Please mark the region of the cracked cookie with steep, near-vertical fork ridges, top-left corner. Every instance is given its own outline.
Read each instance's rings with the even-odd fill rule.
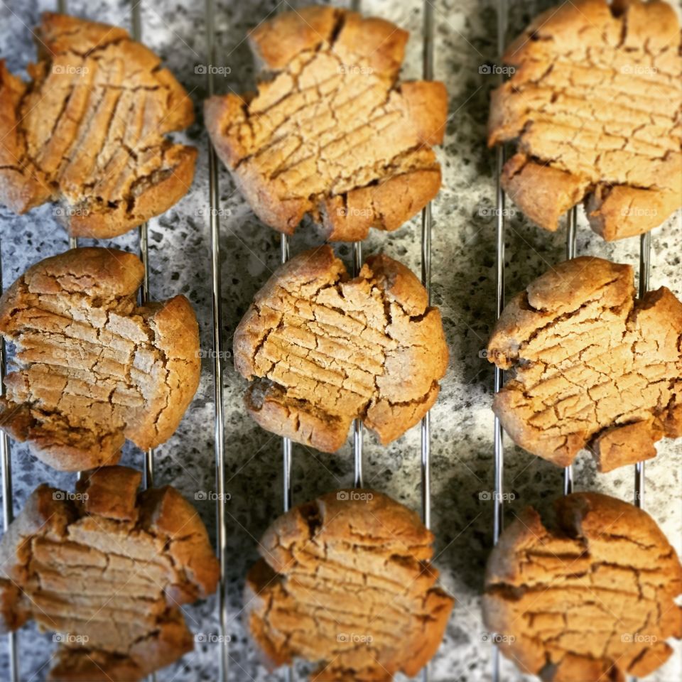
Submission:
[[[73,237],[114,237],[187,193],[197,151],[166,138],[194,120],[185,89],[123,28],[43,14],[30,83],[0,60],[0,202],[59,201]]]

